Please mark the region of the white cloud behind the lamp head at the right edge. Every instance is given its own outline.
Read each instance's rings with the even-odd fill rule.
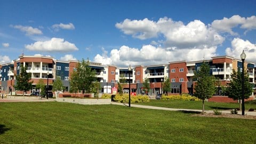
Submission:
[[[246,61],[256,63],[255,55],[256,55],[256,44],[252,44],[250,41],[240,38],[234,38],[231,42],[231,47],[226,49],[226,54],[230,55],[231,57],[241,59],[241,53],[245,52],[246,54]]]

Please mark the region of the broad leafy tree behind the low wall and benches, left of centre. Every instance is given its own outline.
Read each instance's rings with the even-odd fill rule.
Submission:
[[[71,74],[70,80],[70,89],[74,90],[82,90],[82,93],[90,92],[91,84],[94,81],[95,70],[92,70],[89,66],[89,60],[86,61],[83,59],[82,62],[78,62],[76,71]],[[75,86],[75,87],[73,87]]]

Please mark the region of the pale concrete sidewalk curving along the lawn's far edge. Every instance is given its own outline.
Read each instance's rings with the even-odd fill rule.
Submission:
[[[128,106],[128,103],[118,103],[118,102],[111,102],[113,105],[121,105],[121,106]],[[131,107],[137,108],[147,108],[147,109],[159,109],[159,110],[171,110],[171,111],[197,111],[202,112],[202,109],[178,109],[178,108],[164,108],[164,107],[154,107],[154,106],[144,106],[144,105],[135,105],[131,104]],[[214,113],[213,110],[204,110],[205,113]],[[220,110],[222,113],[230,114],[230,110]],[[242,111],[238,111],[239,115],[242,115]],[[256,116],[256,111],[245,111],[245,115]]]

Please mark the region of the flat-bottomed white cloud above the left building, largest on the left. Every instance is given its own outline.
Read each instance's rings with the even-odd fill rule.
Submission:
[[[34,44],[25,45],[25,47],[30,51],[41,52],[70,52],[78,50],[75,44],[64,41],[63,38],[55,37],[49,41],[38,41]]]

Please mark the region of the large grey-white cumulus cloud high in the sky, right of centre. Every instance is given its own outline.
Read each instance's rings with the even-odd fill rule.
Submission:
[[[116,23],[116,28],[121,29],[126,35],[139,39],[163,35],[165,47],[175,46],[178,49],[204,49],[204,47],[217,46],[225,40],[217,31],[199,20],[185,25],[181,21],[173,21],[166,17],[158,21],[125,19]]]

